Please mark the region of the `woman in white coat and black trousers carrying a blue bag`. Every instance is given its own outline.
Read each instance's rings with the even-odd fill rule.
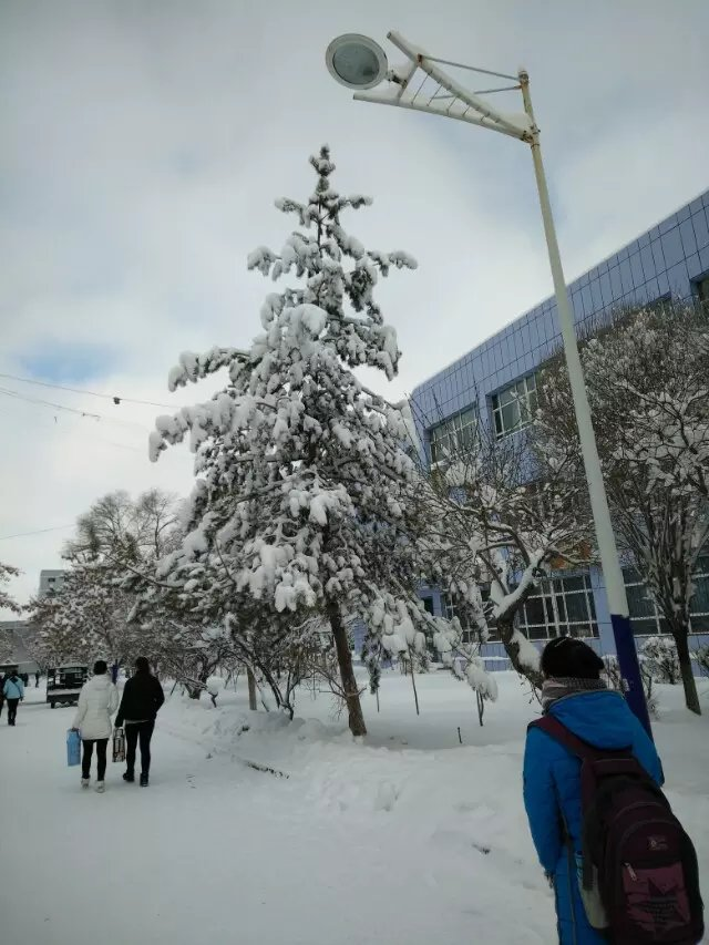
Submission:
[[[91,758],[96,746],[97,779],[96,791],[103,793],[106,775],[106,747],[113,726],[111,716],[119,708],[119,690],[107,675],[105,660],[99,659],[93,667],[93,676],[84,684],[79,696],[79,708],[73,728],[81,735],[83,758],[81,761],[81,787],[89,787]]]

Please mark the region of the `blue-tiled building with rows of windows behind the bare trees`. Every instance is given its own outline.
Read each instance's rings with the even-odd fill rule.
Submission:
[[[624,305],[670,297],[709,301],[709,191],[568,288],[580,331]],[[497,438],[518,430],[525,404],[531,410],[535,405],[535,372],[561,343],[556,302],[549,298],[415,388],[413,414],[429,462],[436,462],[470,424],[490,424]],[[631,568],[625,576],[634,631],[638,637],[661,633],[662,620],[639,576]],[[709,643],[709,555],[699,559],[696,587],[695,647]],[[424,588],[422,596],[432,613],[450,616],[445,596],[435,588]],[[603,574],[590,568],[553,575],[526,603],[520,628],[540,645],[571,631],[595,639],[603,653],[614,653]],[[485,655],[490,668],[506,666],[502,645],[487,644]]]

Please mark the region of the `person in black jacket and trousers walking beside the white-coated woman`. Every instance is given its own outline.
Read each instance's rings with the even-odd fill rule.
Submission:
[[[125,723],[125,774],[123,780],[135,781],[135,749],[141,744],[141,788],[147,788],[151,772],[151,739],[155,717],[165,701],[163,687],[151,672],[144,656],[135,660],[135,672],[126,680],[115,727]]]

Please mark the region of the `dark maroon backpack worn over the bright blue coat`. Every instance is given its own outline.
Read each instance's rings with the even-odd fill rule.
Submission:
[[[582,762],[576,864],[589,924],[616,945],[697,945],[703,935],[697,854],[660,788],[629,748],[595,748],[553,716],[530,728]]]

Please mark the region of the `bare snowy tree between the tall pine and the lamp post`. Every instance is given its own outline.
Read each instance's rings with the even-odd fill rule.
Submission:
[[[571,458],[573,459],[573,456]],[[587,503],[563,451],[533,455],[528,431],[499,440],[487,424],[451,443],[423,502],[443,586],[480,639],[494,618],[513,667],[541,687],[538,653],[516,617],[552,563],[587,564]],[[480,588],[490,588],[483,604]]]

